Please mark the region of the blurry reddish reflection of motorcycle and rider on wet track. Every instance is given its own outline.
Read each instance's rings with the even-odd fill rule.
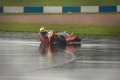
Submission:
[[[74,44],[74,45],[47,45],[47,44],[40,44],[39,46],[39,53],[42,57],[51,57],[56,58],[59,57],[60,54],[67,54],[72,57],[75,57],[74,53],[77,48],[81,47],[81,44]]]

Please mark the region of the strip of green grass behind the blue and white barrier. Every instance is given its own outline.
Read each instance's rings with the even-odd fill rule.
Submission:
[[[120,0],[0,0],[2,6],[120,5]]]

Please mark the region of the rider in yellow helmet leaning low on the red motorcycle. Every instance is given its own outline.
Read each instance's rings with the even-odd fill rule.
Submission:
[[[54,39],[66,42],[67,37],[69,34],[64,31],[64,32],[58,32],[58,31],[52,31],[52,30],[46,30],[44,27],[40,28],[39,32],[39,39],[41,42],[49,42],[51,43]]]

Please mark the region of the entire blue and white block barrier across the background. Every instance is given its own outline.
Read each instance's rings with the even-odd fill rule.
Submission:
[[[0,6],[0,13],[108,13],[120,12],[118,6]]]

